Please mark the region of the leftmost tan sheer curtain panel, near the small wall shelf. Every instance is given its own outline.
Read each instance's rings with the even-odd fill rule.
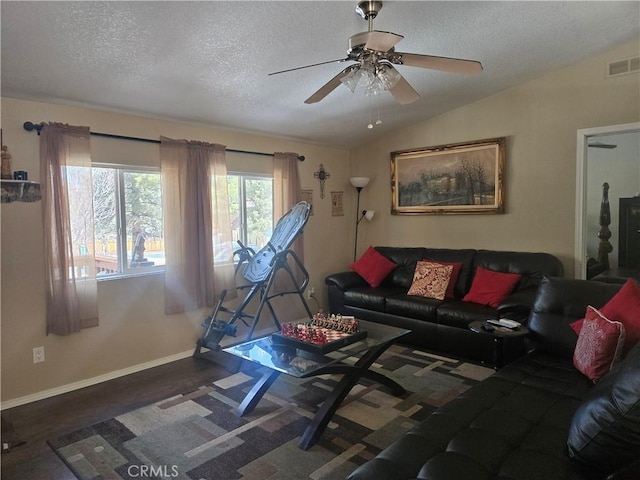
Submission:
[[[89,128],[45,124],[40,179],[47,333],[98,325]]]

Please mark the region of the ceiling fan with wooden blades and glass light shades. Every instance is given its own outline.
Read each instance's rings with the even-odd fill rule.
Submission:
[[[338,73],[304,103],[316,103],[335,90],[340,84],[346,85],[352,92],[358,85],[364,85],[367,95],[377,95],[388,90],[402,105],[413,103],[420,97],[394,65],[428,68],[451,73],[475,75],[482,71],[482,64],[475,60],[435,57],[416,53],[396,52],[395,45],[404,37],[396,33],[373,29],[373,19],[382,9],[381,1],[364,0],[356,6],[356,13],[369,22],[366,32],[349,38],[347,57],[328,62],[314,63],[303,67],[273,72],[269,75],[292,72],[303,68],[316,67],[328,63],[355,62]]]

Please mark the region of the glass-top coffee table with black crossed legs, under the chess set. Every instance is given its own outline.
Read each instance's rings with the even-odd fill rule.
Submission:
[[[360,378],[368,378],[383,385],[393,395],[405,393],[401,385],[381,373],[370,370],[369,367],[396,340],[411,330],[365,320],[360,320],[359,325],[361,331],[367,332],[363,340],[325,354],[274,343],[270,335],[224,348],[223,350],[231,355],[267,367],[265,374],[238,407],[236,415],[242,416],[253,411],[281,373],[297,378],[342,374],[343,378],[322,403],[298,443],[301,449],[307,450],[318,441],[334,413]],[[347,359],[354,359],[355,362],[347,363]]]

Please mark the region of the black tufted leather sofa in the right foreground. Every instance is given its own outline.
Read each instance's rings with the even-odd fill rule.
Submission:
[[[640,345],[595,386],[572,365],[577,335],[569,324],[619,288],[545,278],[529,319],[531,351],[436,410],[348,480],[640,478]],[[622,418],[611,414],[620,406]],[[572,458],[569,436],[590,432],[585,424],[594,419],[603,430],[576,452],[581,460]]]

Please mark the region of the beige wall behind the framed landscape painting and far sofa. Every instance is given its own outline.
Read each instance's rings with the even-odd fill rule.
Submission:
[[[352,174],[372,178],[361,204],[377,212],[359,243],[544,251],[573,276],[577,130],[640,119],[638,73],[604,75],[633,55],[637,42],[354,149]],[[390,152],[494,137],[507,137],[505,214],[390,214]]]

